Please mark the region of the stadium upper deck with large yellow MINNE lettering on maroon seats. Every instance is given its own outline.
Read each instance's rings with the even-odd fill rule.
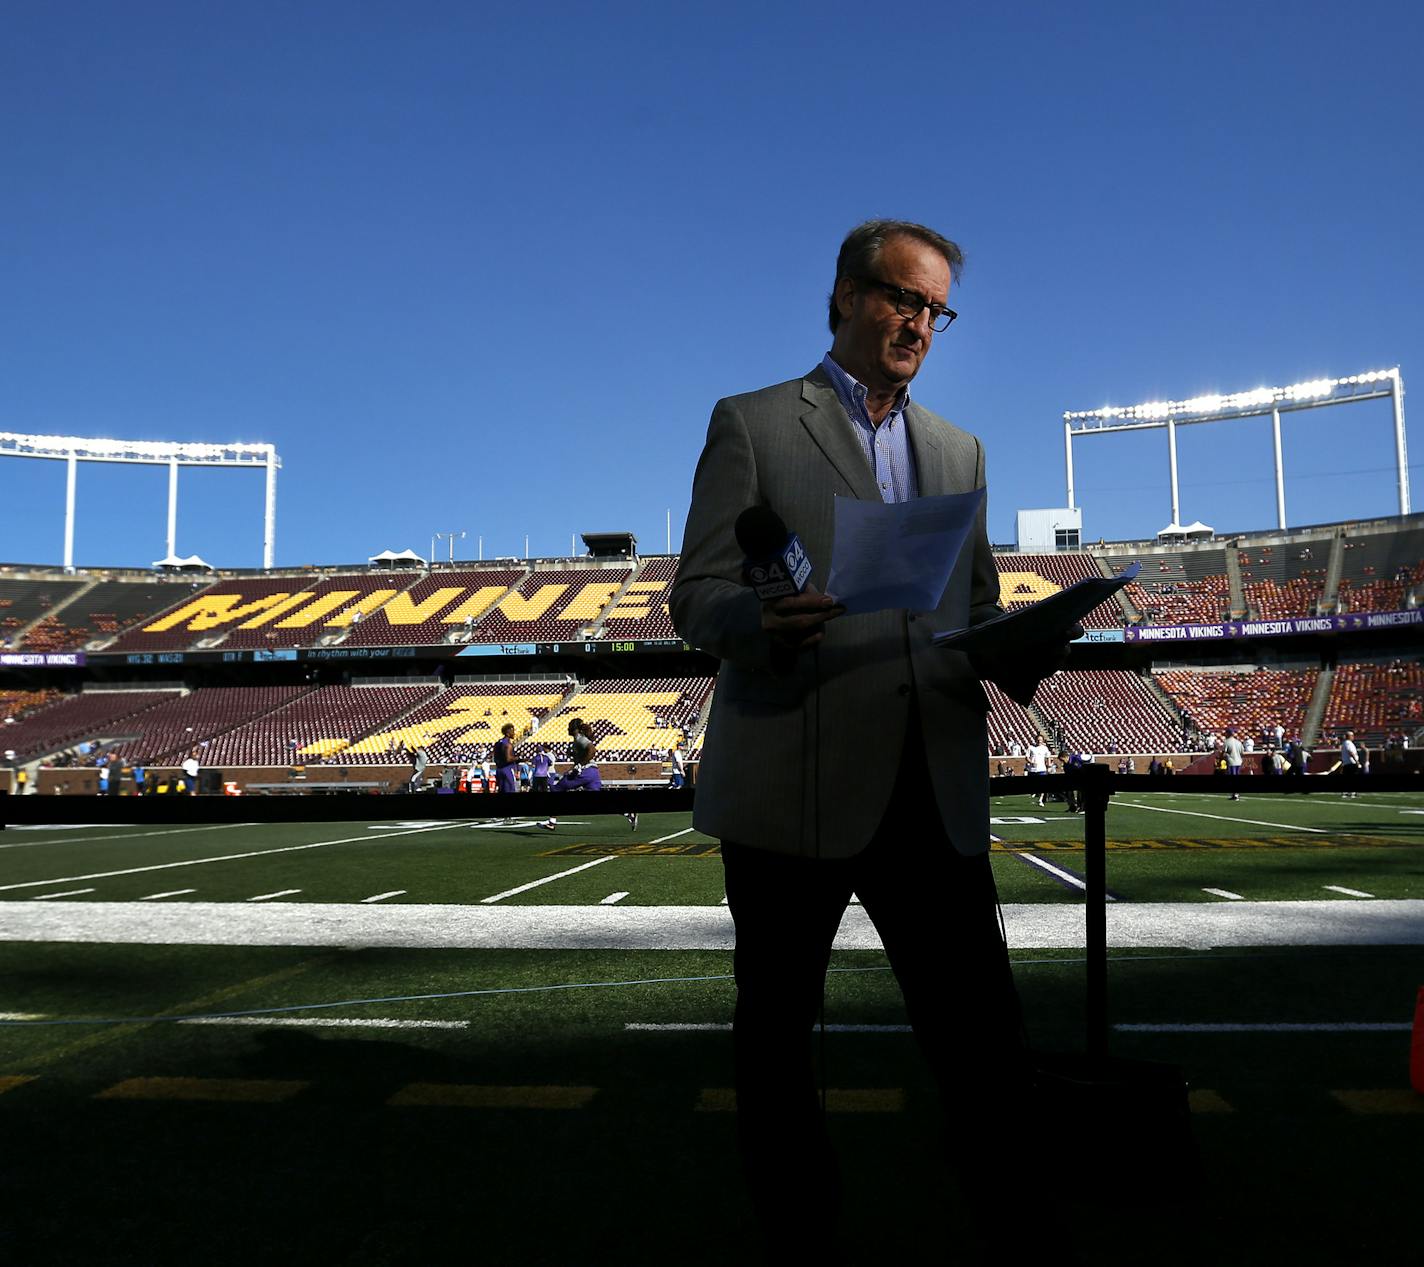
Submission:
[[[1085,577],[1114,575],[1132,561],[1142,562],[1139,578],[1087,622],[1101,631],[1095,641],[1141,626],[1413,614],[1424,595],[1424,515],[1171,548],[1141,542],[1054,555],[995,554],[1007,606],[1035,602]],[[671,641],[676,635],[666,591],[676,565],[676,557],[662,555],[201,581],[57,577],[10,567],[0,569],[0,651],[104,656],[365,648],[370,659],[380,648],[446,646],[460,653],[501,643]]]

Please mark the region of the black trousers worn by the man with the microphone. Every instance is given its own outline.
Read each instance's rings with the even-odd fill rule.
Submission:
[[[968,1190],[981,1186],[1012,1142],[1022,1026],[988,856],[964,857],[950,843],[918,746],[907,746],[884,820],[856,857],[725,841],[722,860],[736,925],[738,1142],[769,1236],[800,1240],[826,1229],[839,1204],[812,1039],[853,893],[880,934],[940,1085],[950,1160]]]

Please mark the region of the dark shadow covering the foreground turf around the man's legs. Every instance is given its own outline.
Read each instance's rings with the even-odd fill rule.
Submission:
[[[1079,1046],[1081,964],[1035,955],[1017,974],[1034,1038]],[[853,992],[871,981],[837,978],[836,1019],[896,1019],[884,991]],[[1112,1012],[1384,1021],[1407,1018],[1420,984],[1408,947],[1143,952],[1114,960]],[[167,1025],[144,1031],[144,1043],[36,1066],[40,1076],[0,1095],[0,1263],[758,1261],[733,1118],[699,1109],[703,1090],[728,1085],[728,1036],[628,1035],[622,1021],[645,1005],[580,1006],[601,1029],[570,1021],[517,1038],[486,1022],[437,1041]],[[1022,1219],[1059,1220],[1065,1244],[1104,1267],[1420,1263],[1424,1115],[1361,1116],[1333,1098],[1407,1088],[1408,1038],[1119,1032],[1116,1055],[1179,1063],[1226,1106],[1193,1122],[1205,1190],[1188,1199],[1163,1184],[1159,1202],[1141,1202],[1151,1174],[1111,1137],[1022,1140],[1008,1173],[993,1177]],[[974,1261],[961,1253],[967,1211],[938,1160],[937,1099],[913,1041],[833,1034],[827,1058],[833,1088],[904,1090],[904,1112],[829,1119],[849,1260]],[[97,1098],[135,1076],[298,1086],[279,1103]],[[392,1103],[413,1085],[595,1092],[581,1108]],[[990,1261],[1010,1260],[1014,1233],[1002,1229]]]

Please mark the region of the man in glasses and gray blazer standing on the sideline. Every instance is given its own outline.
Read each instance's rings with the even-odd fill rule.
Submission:
[[[1021,1029],[988,867],[981,676],[1024,698],[1057,668],[975,668],[931,645],[997,615],[984,511],[931,612],[846,615],[823,594],[836,497],[904,501],[984,487],[980,441],[909,399],[963,256],[941,235],[871,221],[846,239],[833,343],[809,374],[718,403],[698,463],[669,608],[722,662],[696,782],[696,827],[722,841],[736,925],[738,1130],[773,1254],[833,1246],[837,1179],[810,1035],[832,941],[857,894],[946,1092],[971,1194],[1008,1125],[994,1090],[1021,1073]],[[773,510],[813,564],[805,594],[760,602],[733,525]]]

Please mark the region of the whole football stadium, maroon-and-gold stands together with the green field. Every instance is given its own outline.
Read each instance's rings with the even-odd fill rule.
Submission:
[[[695,789],[716,662],[672,626],[675,554],[584,545],[0,569],[9,1260],[755,1254],[746,1210],[698,1199],[708,1157],[735,1165],[732,941],[718,843],[668,789],[674,749]],[[1035,1043],[1081,1048],[1087,1015],[1089,1051],[1180,1066],[1215,1213],[1182,1156],[1092,1113],[1005,1182],[1078,1210],[1094,1263],[1418,1261],[1424,515],[1173,517],[994,562],[1008,608],[1141,567],[1031,705],[985,683],[994,873]],[[562,769],[575,716],[608,793],[553,834],[538,793],[474,799],[506,725]],[[1229,729],[1230,803],[1209,777]],[[1370,770],[1350,797],[1347,732]],[[1115,776],[1096,881],[1074,784],[1040,804],[1015,777],[1040,735]],[[824,1009],[829,1129],[863,1209],[900,1214],[874,1253],[909,1260],[926,1211],[965,1214],[856,907]],[[1323,1173],[1350,1219],[1314,1223]]]

